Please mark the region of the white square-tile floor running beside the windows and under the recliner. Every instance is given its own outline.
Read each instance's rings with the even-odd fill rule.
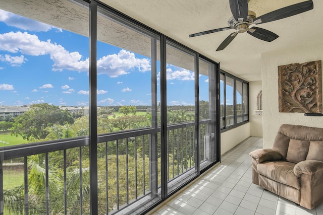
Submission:
[[[260,148],[260,137],[244,140],[222,156],[220,165],[204,173],[192,185],[151,214],[322,215],[323,204],[308,210],[251,183],[249,152]]]

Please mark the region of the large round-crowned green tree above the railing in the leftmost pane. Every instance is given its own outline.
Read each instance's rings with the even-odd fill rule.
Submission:
[[[49,133],[47,127],[55,124],[73,123],[74,118],[68,110],[47,103],[34,104],[24,114],[15,118],[11,133],[21,135],[24,139],[30,137],[43,139]]]

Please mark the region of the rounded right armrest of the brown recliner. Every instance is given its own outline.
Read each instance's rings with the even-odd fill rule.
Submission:
[[[322,161],[305,160],[297,163],[294,167],[294,173],[297,177],[302,174],[313,175],[319,171],[323,171]]]

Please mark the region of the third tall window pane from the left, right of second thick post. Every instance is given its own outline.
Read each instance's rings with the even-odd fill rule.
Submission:
[[[193,54],[170,41],[166,51],[168,193],[171,193],[196,174],[195,73]]]

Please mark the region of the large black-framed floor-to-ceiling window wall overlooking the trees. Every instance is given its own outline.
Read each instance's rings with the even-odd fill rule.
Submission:
[[[82,110],[69,122],[41,122],[43,136],[0,148],[0,214],[145,213],[220,161],[218,63],[97,1],[2,1],[0,9],[58,35],[0,32],[40,44],[37,54],[16,45],[38,62],[30,68],[39,56],[49,61],[19,90],[52,100],[22,115],[38,113],[28,117],[40,123],[48,111]]]

